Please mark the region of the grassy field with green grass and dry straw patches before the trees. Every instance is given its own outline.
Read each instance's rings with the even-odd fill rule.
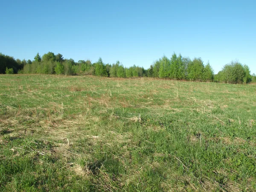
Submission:
[[[255,84],[0,76],[0,191],[255,190]]]

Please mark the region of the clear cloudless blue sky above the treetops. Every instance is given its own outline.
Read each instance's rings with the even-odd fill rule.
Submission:
[[[176,52],[215,73],[235,59],[256,73],[255,0],[3,0],[0,18],[0,52],[14,58],[51,51],[148,68]]]

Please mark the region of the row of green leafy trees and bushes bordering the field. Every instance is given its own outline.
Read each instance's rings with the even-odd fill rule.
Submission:
[[[163,56],[145,70],[143,67],[124,67],[119,61],[115,64],[105,64],[102,59],[96,63],[90,60],[64,59],[59,53],[53,52],[44,54],[41,58],[39,53],[35,55],[33,61],[14,59],[8,55],[0,53],[0,73],[13,74],[58,74],[58,75],[95,75],[101,77],[152,77],[160,79],[174,79],[187,81],[213,81],[221,83],[246,84],[256,82],[255,74],[250,74],[247,65],[242,65],[238,61],[231,61],[224,65],[222,70],[214,75],[209,61],[205,65],[201,58],[191,60],[175,53],[171,58]]]

